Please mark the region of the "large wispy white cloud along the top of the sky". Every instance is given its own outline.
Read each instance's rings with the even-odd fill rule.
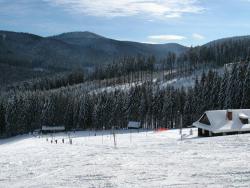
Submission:
[[[43,0],[70,12],[97,17],[147,15],[154,18],[177,18],[205,9],[199,0]]]

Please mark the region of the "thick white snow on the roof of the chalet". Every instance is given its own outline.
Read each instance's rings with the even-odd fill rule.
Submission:
[[[231,110],[231,112],[233,113],[232,121],[227,119],[227,110],[206,111],[205,114],[211,125],[201,123],[200,119],[193,123],[193,125],[213,133],[250,131],[250,124],[242,124],[239,119],[240,117],[249,119],[250,109]]]

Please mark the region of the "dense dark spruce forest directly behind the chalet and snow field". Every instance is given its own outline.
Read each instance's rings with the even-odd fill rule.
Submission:
[[[161,87],[145,82],[134,87],[96,92],[85,87],[15,91],[0,97],[0,135],[31,132],[42,125],[72,129],[187,127],[206,110],[250,108],[250,66],[234,64],[223,75],[203,73],[194,87]]]

